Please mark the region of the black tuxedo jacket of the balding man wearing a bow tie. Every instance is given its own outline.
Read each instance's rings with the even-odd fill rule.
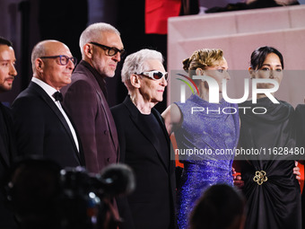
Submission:
[[[19,155],[42,155],[62,167],[84,165],[81,141],[78,152],[64,116],[38,84],[18,95],[12,111]]]

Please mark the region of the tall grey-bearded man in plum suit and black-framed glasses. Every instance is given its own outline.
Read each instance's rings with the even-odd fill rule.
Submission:
[[[118,134],[107,103],[105,78],[113,77],[124,53],[119,32],[107,23],[95,23],[80,37],[83,56],[63,88],[64,107],[74,119],[83,143],[86,169],[99,173],[118,162]]]

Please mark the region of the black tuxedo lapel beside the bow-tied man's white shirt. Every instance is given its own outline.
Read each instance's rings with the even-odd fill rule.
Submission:
[[[67,124],[64,115],[58,109],[58,107],[55,104],[55,102],[48,96],[48,93],[45,92],[38,84],[30,82],[29,88],[30,88],[30,90],[34,90],[35,92],[37,92],[39,97],[43,101],[45,101],[48,104],[48,107],[51,110],[53,110],[53,112],[57,115],[57,118],[60,120],[61,124],[65,128],[66,134],[70,137],[70,140],[71,140],[72,144],[74,145],[74,152],[75,152],[78,160],[81,162],[80,155],[78,154],[78,151],[77,151],[77,148],[76,148],[76,145],[75,145],[75,141],[74,141],[74,137],[72,136],[71,130],[69,128],[69,125]]]

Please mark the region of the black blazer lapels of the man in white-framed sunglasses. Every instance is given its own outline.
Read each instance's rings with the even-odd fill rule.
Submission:
[[[143,116],[141,115],[139,110],[137,110],[137,108],[135,107],[134,103],[130,100],[129,96],[126,97],[126,99],[125,99],[125,101],[123,103],[126,105],[127,109],[130,111],[130,114],[131,114],[130,117],[133,120],[133,122],[135,123],[136,128],[138,128],[142,132],[144,137],[146,137],[147,140],[149,142],[151,142],[151,144],[153,145],[153,147],[155,148],[157,154],[159,155],[159,157],[161,159],[161,163],[163,164],[163,166],[168,171],[168,169],[169,169],[169,162],[166,159],[167,155],[161,154],[161,150],[160,150],[160,148],[158,147],[158,144],[157,144],[157,142],[158,142],[157,137],[151,131],[151,129],[148,127],[148,125],[146,124],[146,122],[143,119]],[[158,120],[158,122],[161,124],[161,127],[162,127],[163,124],[161,123],[161,118],[158,116],[157,111],[153,109],[152,112],[153,112],[153,115],[155,116],[155,118]],[[167,139],[167,142],[168,142],[168,145],[164,145],[164,146],[169,147],[168,139]],[[169,150],[170,150],[170,148],[169,148]],[[170,155],[168,155],[168,156],[170,156]]]

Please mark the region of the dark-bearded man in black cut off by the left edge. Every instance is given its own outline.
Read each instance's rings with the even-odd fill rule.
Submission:
[[[17,75],[12,43],[0,37],[0,92],[12,89]],[[11,110],[0,102],[0,228],[15,228],[13,214],[5,207],[5,175],[13,164],[16,154]]]

